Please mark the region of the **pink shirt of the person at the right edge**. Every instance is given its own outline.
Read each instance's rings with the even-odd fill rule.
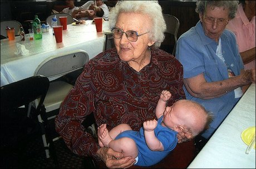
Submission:
[[[245,16],[243,4],[238,6],[235,18],[229,21],[227,29],[235,33],[239,52],[255,47],[255,16],[249,21]],[[255,68],[255,59],[244,65],[244,69]]]

